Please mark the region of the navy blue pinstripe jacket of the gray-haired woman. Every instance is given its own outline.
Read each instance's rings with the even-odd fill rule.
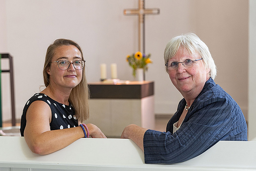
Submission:
[[[213,79],[205,83],[181,127],[172,134],[185,105],[182,99],[166,132],[145,132],[145,163],[179,163],[202,154],[220,140],[247,141],[247,125],[240,107]]]

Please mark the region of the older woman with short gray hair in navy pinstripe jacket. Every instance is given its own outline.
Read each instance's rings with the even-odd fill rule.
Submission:
[[[145,163],[179,163],[196,157],[220,140],[247,141],[241,108],[213,79],[216,65],[194,33],[174,37],[164,51],[166,71],[184,97],[166,132],[131,124],[121,138],[133,140]]]

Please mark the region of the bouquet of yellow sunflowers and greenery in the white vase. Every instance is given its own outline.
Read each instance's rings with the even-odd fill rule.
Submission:
[[[147,71],[147,68],[148,68],[147,64],[152,63],[152,60],[150,60],[150,54],[145,55],[145,54],[142,54],[140,51],[132,55],[127,55],[126,61],[132,67],[133,69],[132,75],[134,77],[136,76],[137,68],[143,68],[145,72]]]

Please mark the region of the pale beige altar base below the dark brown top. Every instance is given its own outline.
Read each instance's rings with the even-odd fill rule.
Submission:
[[[90,117],[106,136],[119,137],[129,124],[154,129],[154,96],[142,99],[90,99]]]

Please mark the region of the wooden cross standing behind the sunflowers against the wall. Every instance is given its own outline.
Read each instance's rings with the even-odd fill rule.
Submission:
[[[160,14],[159,8],[147,8],[145,9],[145,0],[138,0],[139,8],[138,9],[125,9],[124,15],[138,15],[139,17],[139,25],[138,25],[138,50],[141,51],[141,47],[143,47],[142,53],[145,53],[145,15],[147,14]],[[142,27],[142,29],[141,29]],[[142,39],[142,42],[141,42]]]

